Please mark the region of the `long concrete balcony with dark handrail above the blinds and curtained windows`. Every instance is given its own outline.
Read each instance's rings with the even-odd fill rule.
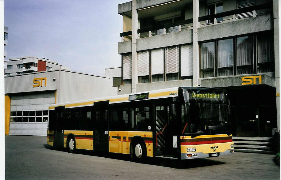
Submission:
[[[268,2],[199,17],[198,41],[271,30],[272,11],[272,2]],[[217,21],[218,18],[223,18],[223,21]],[[192,43],[192,23],[191,18],[138,29],[137,51]],[[122,32],[120,36],[118,54],[131,52],[132,31]]]

